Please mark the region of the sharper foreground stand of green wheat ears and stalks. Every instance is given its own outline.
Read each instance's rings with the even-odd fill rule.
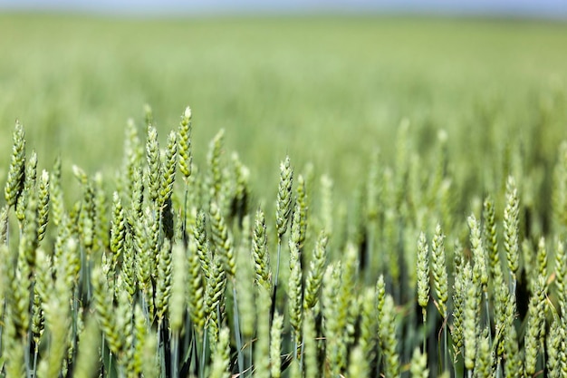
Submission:
[[[274,206],[253,204],[223,131],[197,170],[189,108],[163,150],[149,109],[145,127],[144,149],[128,123],[117,179],[73,167],[66,207],[61,160],[38,174],[16,123],[0,375],[567,376],[567,144],[545,238],[512,176],[457,220],[447,135],[424,175],[405,122],[395,169],[377,154],[349,210],[287,157]]]

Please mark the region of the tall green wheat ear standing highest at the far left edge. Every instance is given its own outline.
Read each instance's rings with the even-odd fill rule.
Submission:
[[[19,121],[15,122],[14,145],[10,160],[10,169],[6,179],[4,196],[9,207],[15,207],[22,191],[24,190],[25,173],[25,133],[24,127]]]

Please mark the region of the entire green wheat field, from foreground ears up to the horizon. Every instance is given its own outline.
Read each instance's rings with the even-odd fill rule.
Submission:
[[[25,17],[14,20],[0,28]],[[267,50],[253,33],[267,24],[232,21],[238,44],[201,46],[201,56],[151,43],[152,31],[186,30],[180,21],[140,31],[148,54],[91,35],[104,51],[97,62],[78,45],[14,44],[0,68],[0,117],[14,105],[25,127],[3,126],[1,141],[3,376],[565,376],[567,57],[553,50],[564,32],[552,33],[563,26],[469,21],[446,35],[456,24],[358,21],[333,34],[322,20],[280,20],[271,33],[287,37]],[[208,23],[186,27],[205,40],[225,30]],[[123,43],[139,25],[114,30]],[[298,25],[319,43],[303,41]],[[439,59],[424,41],[393,56],[368,51],[377,31],[389,41],[395,31],[425,38],[422,28],[437,52],[455,54]],[[45,38],[37,30],[25,30],[27,41]],[[552,48],[538,46],[536,59],[542,35]],[[337,46],[345,51],[327,50]],[[24,52],[47,59],[16,65]],[[63,82],[49,59],[58,52],[78,70]],[[474,52],[494,60],[472,64]],[[226,56],[234,61],[219,63]],[[146,75],[158,62],[165,81]],[[347,67],[352,76],[336,80]],[[305,78],[324,91],[300,86]],[[134,79],[143,89],[130,97]],[[39,86],[30,108],[24,80]],[[299,100],[288,97],[296,88]],[[189,108],[175,115],[184,97],[198,121]],[[116,126],[121,107],[146,100],[153,110]],[[174,106],[160,121],[155,109]],[[169,132],[159,126],[174,119]],[[83,128],[61,127],[70,121]],[[273,129],[253,127],[264,122]],[[287,133],[288,122],[301,128]]]

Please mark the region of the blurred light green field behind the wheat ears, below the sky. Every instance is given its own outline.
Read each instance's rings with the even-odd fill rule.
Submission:
[[[535,141],[541,148],[527,153],[547,165],[567,136],[567,24],[0,15],[0,35],[3,182],[15,119],[39,168],[61,154],[67,177],[72,163],[111,173],[126,121],[141,130],[145,103],[162,142],[191,106],[200,165],[226,129],[226,150],[239,152],[267,199],[285,154],[299,170],[312,161],[351,194],[372,150],[394,160],[403,118],[422,160],[437,130],[448,131],[457,181],[477,195],[490,189],[479,172],[499,164],[506,146],[494,141],[503,135]]]

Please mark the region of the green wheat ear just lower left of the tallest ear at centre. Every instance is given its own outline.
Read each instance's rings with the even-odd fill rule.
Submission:
[[[268,240],[265,226],[264,211],[258,208],[255,216],[254,235],[252,237],[252,255],[255,265],[255,282],[272,289],[272,272],[270,269],[270,254],[268,253]]]

